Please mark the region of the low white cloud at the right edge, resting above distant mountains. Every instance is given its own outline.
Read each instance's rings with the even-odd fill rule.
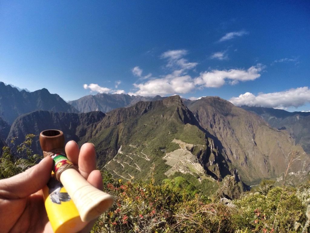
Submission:
[[[288,107],[300,107],[305,103],[310,103],[310,89],[308,87],[299,87],[287,91],[258,94],[245,93],[239,97],[233,97],[229,100],[236,106],[248,105],[256,107],[273,107],[285,109]]]

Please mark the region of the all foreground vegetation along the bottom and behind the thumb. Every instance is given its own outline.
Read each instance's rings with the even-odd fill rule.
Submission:
[[[38,155],[29,149],[32,138],[27,135],[15,149],[2,148],[0,178],[13,176],[37,162]],[[182,177],[154,185],[153,179],[125,182],[114,180],[106,171],[102,174],[104,189],[114,196],[115,203],[100,216],[92,232],[310,231],[310,182],[295,189],[286,187],[285,179],[282,187],[263,180],[240,199],[229,201],[219,194],[199,193]]]

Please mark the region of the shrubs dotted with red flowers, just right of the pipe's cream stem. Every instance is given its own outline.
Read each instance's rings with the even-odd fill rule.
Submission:
[[[112,208],[101,215],[92,232],[234,232],[234,208],[192,194],[184,178],[163,185],[103,179],[115,198]],[[178,187],[178,188],[175,188]],[[190,188],[189,188],[190,187]],[[184,192],[185,190],[185,192]]]

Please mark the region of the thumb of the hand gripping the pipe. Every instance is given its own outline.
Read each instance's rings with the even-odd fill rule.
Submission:
[[[53,160],[46,157],[26,171],[0,180],[0,196],[8,199],[24,198],[42,189],[51,177]]]

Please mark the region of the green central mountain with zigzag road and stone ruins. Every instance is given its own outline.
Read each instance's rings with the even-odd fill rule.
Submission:
[[[91,141],[99,153],[105,152],[98,161],[116,178],[148,180],[153,176],[160,182],[181,175],[199,187],[208,186],[208,183],[213,187],[215,179],[221,180],[231,174],[224,157],[213,154],[213,149],[211,152],[209,144],[213,141],[209,139],[210,143],[206,139],[179,96],[115,109],[107,113],[97,128],[100,130],[96,130],[98,133]],[[176,139],[192,146],[182,148],[180,143],[175,143]],[[178,149],[188,154],[182,158],[175,155],[178,164],[167,163],[164,157]],[[222,159],[215,159],[215,156]],[[210,158],[213,158],[212,164],[208,164]],[[171,169],[174,171],[169,172]],[[244,190],[241,187],[240,192]]]

